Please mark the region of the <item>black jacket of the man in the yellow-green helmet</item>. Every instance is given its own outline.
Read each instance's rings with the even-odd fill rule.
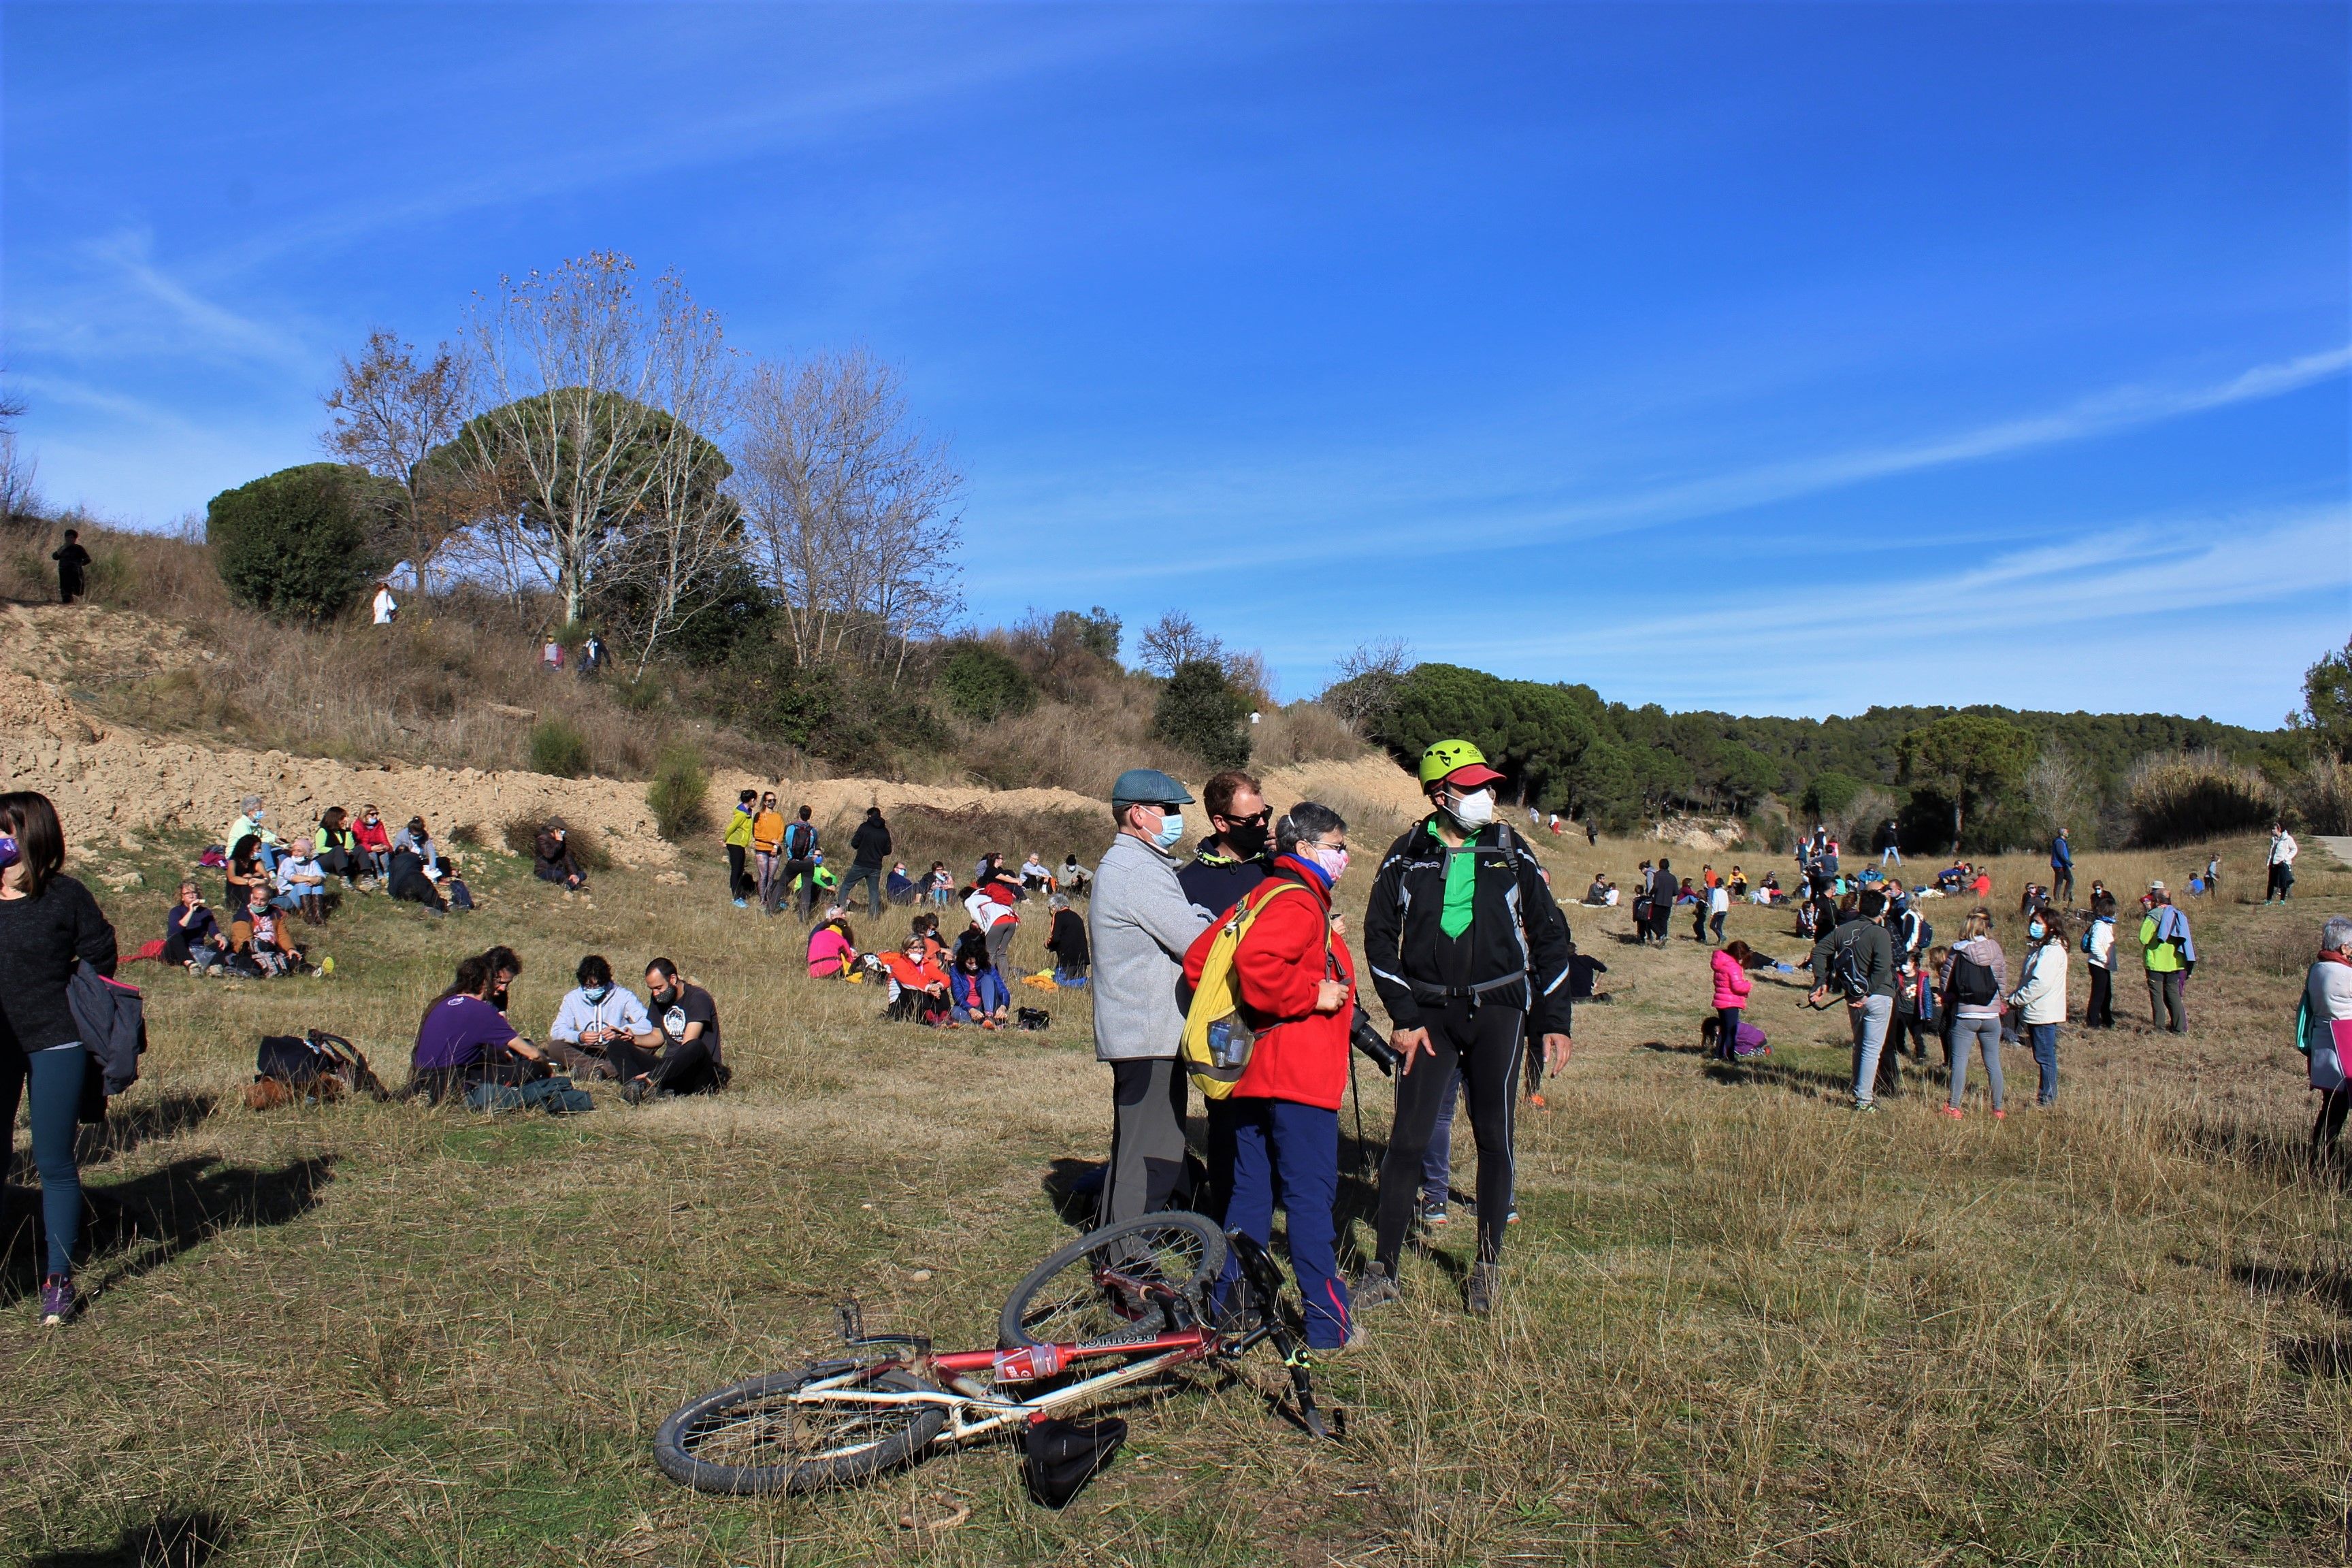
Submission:
[[[1425,1009],[1475,990],[1477,1001],[1531,1006],[1543,1034],[1566,1034],[1576,945],[1536,856],[1508,823],[1489,823],[1449,851],[1435,820],[1430,813],[1388,849],[1364,910],[1364,964],[1390,1023],[1418,1030]],[[1470,929],[1458,938],[1437,924],[1449,853],[1477,856]]]

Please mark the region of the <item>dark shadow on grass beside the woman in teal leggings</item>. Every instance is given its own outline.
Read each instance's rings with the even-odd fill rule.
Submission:
[[[275,1168],[228,1166],[209,1154],[174,1159],[160,1171],[85,1187],[82,1276],[85,1298],[96,1300],[125,1279],[160,1269],[223,1229],[287,1225],[318,1206],[332,1180],[332,1157],[296,1159]],[[0,1194],[0,1305],[40,1286],[40,1197],[31,1187]]]

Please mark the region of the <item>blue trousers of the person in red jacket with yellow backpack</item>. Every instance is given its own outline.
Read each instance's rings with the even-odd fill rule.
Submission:
[[[1225,1100],[1232,1131],[1232,1173],[1225,1190],[1225,1229],[1258,1246],[1275,1234],[1275,1204],[1289,1215],[1291,1272],[1308,1309],[1308,1345],[1348,1342],[1348,1281],[1338,1276],[1338,1112],[1296,1100]],[[1240,1281],[1242,1260],[1225,1260],[1223,1295]]]

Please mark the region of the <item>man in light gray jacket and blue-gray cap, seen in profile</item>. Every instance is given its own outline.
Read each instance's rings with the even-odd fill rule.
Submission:
[[[1094,947],[1094,1058],[1110,1063],[1110,1173],[1098,1222],[1167,1208],[1183,1180],[1183,954],[1209,924],[1176,882],[1192,797],[1157,769],[1127,769],[1110,790],[1120,837],[1103,851],[1087,905]]]

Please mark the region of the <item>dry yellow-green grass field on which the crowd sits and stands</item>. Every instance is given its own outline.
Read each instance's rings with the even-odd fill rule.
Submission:
[[[910,832],[908,858],[969,863],[971,827],[953,832]],[[1352,837],[1359,900],[1385,839]],[[143,872],[106,893],[143,938],[191,849],[78,865]],[[715,851],[687,886],[614,875],[590,900],[506,863],[449,922],[358,898],[327,933],[329,980],[139,966],[155,1051],[92,1140],[85,1321],[35,1326],[33,1197],[7,1192],[0,1559],[2338,1563],[2352,1225],[2300,1164],[2288,1025],[2352,872],[2312,851],[2296,905],[2263,910],[2256,846],[2225,849],[2225,900],[2192,907],[2187,1039],[2145,1027],[2126,966],[2124,1027],[2065,1032],[2058,1107],[2030,1107],[2030,1056],[2009,1053],[2006,1124],[1936,1117],[1917,1074],[1856,1119],[1839,1018],[1771,978],[1752,1011],[1769,1065],[1705,1065],[1686,919],[1653,952],[1625,912],[1571,910],[1609,1001],[1578,1013],[1566,1079],[1522,1117],[1501,1312],[1458,1309],[1456,1211],[1371,1345],[1319,1373],[1348,1441],[1312,1443],[1249,1382],[1171,1387],[1063,1514],[1025,1502],[1002,1446],[863,1490],[720,1500],[670,1486],[649,1441],[687,1396],[823,1347],[849,1293],[870,1324],[988,1342],[1011,1281],[1073,1234],[1049,1175],[1105,1145],[1082,997],[1047,999],[1044,1037],[882,1025],[873,992],[800,976],[793,922],[724,903]],[[1545,844],[1571,898],[1653,851]],[[2082,872],[2178,886],[2192,863],[2086,853]],[[2037,870],[1997,865],[2011,952]],[[1940,936],[1962,907],[1931,905]],[[1740,907],[1731,933],[1802,954],[1790,914]],[[306,1025],[405,1077],[426,999],[496,940],[527,959],[529,1032],[581,952],[623,973],[673,954],[720,999],[734,1091],[640,1110],[600,1091],[564,1121],[238,1100],[256,1037]],[[2072,985],[2079,1016],[2079,957]],[[1364,1077],[1376,1159],[1388,1093]],[[1458,1187],[1472,1159],[1463,1126]],[[1369,1197],[1345,1185],[1364,1246]],[[957,1528],[901,1523],[960,1507]]]

